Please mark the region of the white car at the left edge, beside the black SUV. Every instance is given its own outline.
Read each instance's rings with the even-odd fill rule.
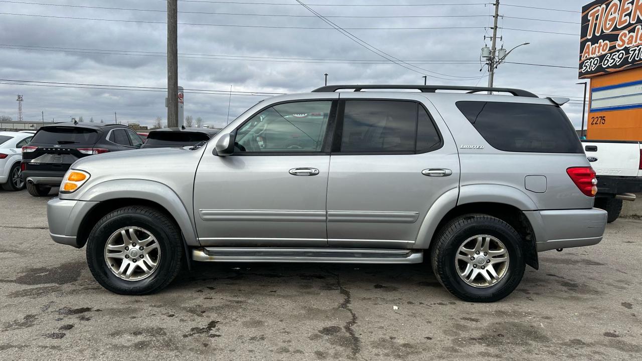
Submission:
[[[20,162],[22,146],[28,145],[33,134],[24,132],[0,132],[0,184],[7,191],[24,189]]]

